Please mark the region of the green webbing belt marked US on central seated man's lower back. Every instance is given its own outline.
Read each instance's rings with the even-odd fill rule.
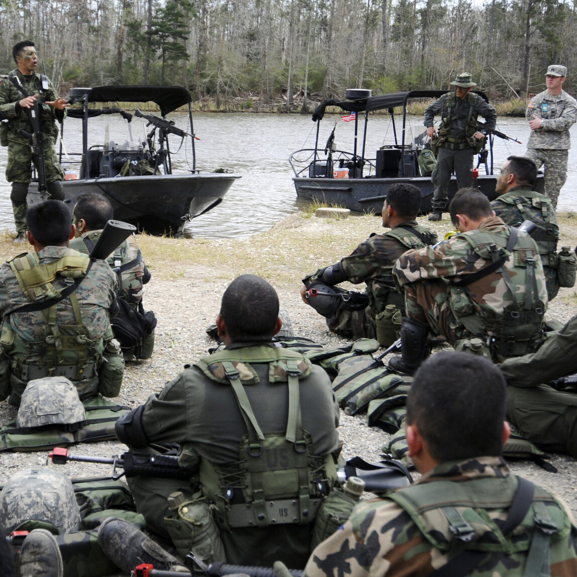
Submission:
[[[310,501],[308,514],[305,518],[300,515],[300,508],[297,499],[279,499],[275,501],[265,501],[264,509],[261,512],[264,519],[264,526],[310,523],[317,516],[321,506],[321,499]],[[252,503],[230,505],[225,509],[228,526],[234,527],[258,527],[263,520],[257,519],[257,515]]]

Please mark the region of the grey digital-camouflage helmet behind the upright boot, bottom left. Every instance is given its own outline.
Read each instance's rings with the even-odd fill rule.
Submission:
[[[78,530],[80,509],[66,475],[33,467],[6,481],[0,493],[0,523],[12,533],[29,520],[51,523],[61,535]]]

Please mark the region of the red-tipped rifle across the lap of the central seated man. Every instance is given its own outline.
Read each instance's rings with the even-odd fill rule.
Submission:
[[[57,465],[66,464],[69,461],[111,464],[113,466],[111,478],[113,479],[119,479],[122,475],[126,475],[126,477],[157,477],[190,481],[197,472],[193,467],[179,466],[178,456],[174,454],[159,455],[127,451],[121,456],[113,455],[112,458],[102,458],[69,455],[68,449],[55,447],[48,454],[47,463],[49,459]],[[117,471],[117,467],[123,469],[122,473]],[[343,484],[350,477],[358,477],[364,482],[365,490],[371,493],[383,493],[413,482],[411,474],[399,461],[384,460],[380,463],[367,463],[360,457],[354,457],[347,461],[346,466],[337,471],[337,477]],[[236,572],[242,573],[243,571]]]

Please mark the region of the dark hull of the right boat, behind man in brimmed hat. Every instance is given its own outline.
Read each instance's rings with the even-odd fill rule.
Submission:
[[[349,208],[354,212],[380,213],[389,186],[397,183],[410,183],[421,189],[421,214],[432,210],[434,187],[430,177],[399,178],[304,178],[293,177],[297,196],[318,203]],[[479,175],[477,186],[489,200],[495,197],[496,175]],[[538,192],[544,191],[543,175],[537,177]],[[457,181],[451,178],[449,200],[457,192]]]

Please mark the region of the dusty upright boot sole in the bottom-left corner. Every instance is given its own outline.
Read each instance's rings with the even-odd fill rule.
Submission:
[[[20,550],[20,577],[62,577],[62,556],[54,535],[34,529]]]

